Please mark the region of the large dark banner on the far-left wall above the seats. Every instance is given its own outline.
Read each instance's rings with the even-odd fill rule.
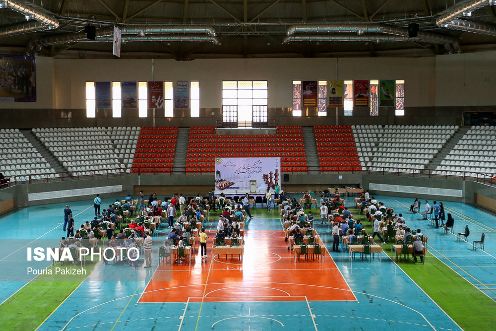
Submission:
[[[33,56],[0,55],[0,102],[36,101]]]

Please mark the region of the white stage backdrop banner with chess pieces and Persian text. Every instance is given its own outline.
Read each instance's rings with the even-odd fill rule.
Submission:
[[[215,193],[239,194],[250,192],[250,181],[256,181],[256,193],[267,187],[273,192],[280,183],[280,157],[217,157],[215,158]]]

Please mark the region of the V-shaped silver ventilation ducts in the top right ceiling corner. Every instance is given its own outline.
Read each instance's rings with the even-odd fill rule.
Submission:
[[[489,36],[496,36],[496,25],[484,22],[474,22],[459,19],[459,17],[466,17],[468,13],[485,7],[487,5],[496,4],[495,0],[471,0],[461,1],[454,4],[440,13],[436,19],[436,25],[446,29],[472,32],[478,34],[485,34]]]

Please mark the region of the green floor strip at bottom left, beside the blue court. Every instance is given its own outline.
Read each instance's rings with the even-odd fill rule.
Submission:
[[[89,275],[97,262],[87,261],[82,269]],[[56,267],[80,269],[81,265],[57,263]],[[57,307],[81,284],[86,275],[71,276],[77,281],[54,281],[50,275],[39,275],[0,306],[3,330],[36,330]],[[60,279],[60,277],[59,277]]]

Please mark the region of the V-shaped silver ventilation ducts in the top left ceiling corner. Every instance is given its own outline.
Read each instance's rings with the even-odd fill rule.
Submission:
[[[42,30],[54,30],[59,27],[59,21],[57,20],[57,18],[55,18],[53,13],[42,7],[37,8],[38,6],[36,6],[34,3],[20,0],[0,0],[0,4],[4,8],[10,8],[20,14],[23,14],[30,20],[35,20],[41,23],[40,25],[35,25],[33,23],[25,24],[24,30],[22,30],[20,24],[8,26],[2,29],[2,34],[0,36],[10,36],[12,34],[28,33]],[[9,33],[9,29],[12,29],[15,32]]]

